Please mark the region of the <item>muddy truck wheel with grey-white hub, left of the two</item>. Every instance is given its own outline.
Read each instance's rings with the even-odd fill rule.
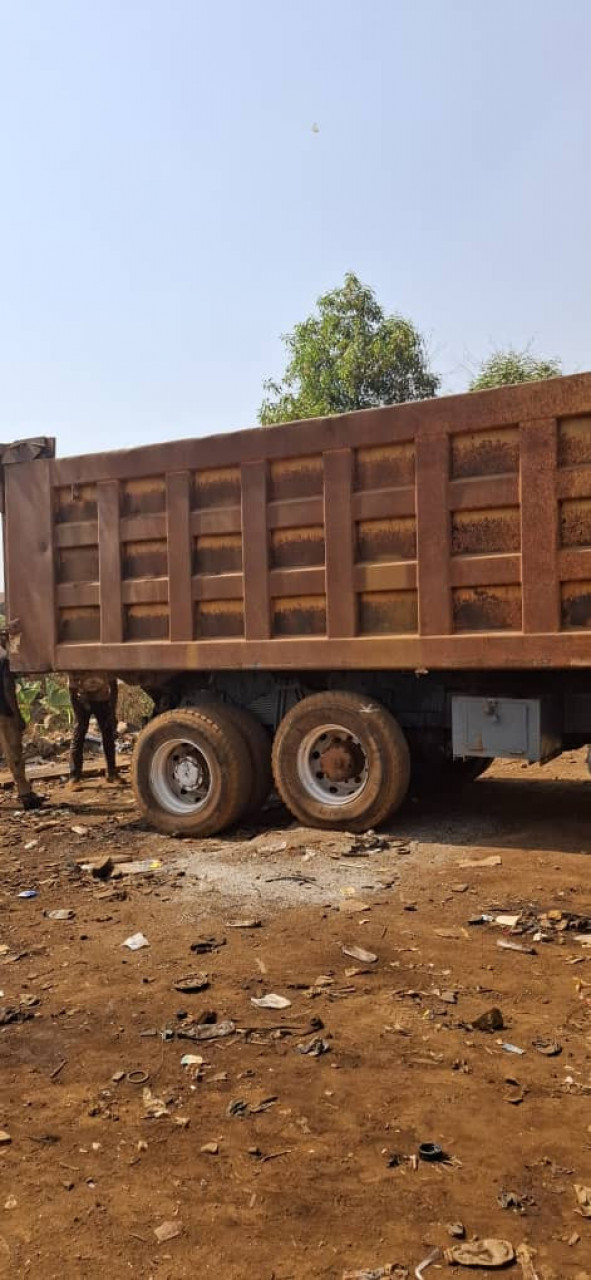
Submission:
[[[166,712],[142,730],[133,790],[147,820],[166,835],[212,836],[232,826],[252,791],[242,733],[223,708]]]

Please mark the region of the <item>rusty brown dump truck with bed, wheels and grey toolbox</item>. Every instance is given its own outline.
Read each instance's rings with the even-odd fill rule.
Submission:
[[[75,458],[0,449],[17,672],[154,699],[133,785],[365,831],[591,740],[591,374]]]

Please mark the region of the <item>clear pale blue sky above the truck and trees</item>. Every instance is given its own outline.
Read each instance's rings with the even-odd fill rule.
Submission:
[[[588,0],[0,0],[0,438],[251,425],[347,270],[446,390],[588,367],[590,47]]]

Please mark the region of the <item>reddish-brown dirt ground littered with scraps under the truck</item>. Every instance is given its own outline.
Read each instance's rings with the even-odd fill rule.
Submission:
[[[280,809],[179,841],[142,827],[128,788],[40,790],[40,815],[0,796],[0,1019],[24,1018],[0,1029],[0,1275],[413,1276],[453,1222],[527,1242],[517,1276],[591,1274],[574,1192],[591,1187],[591,946],[560,929],[591,914],[581,755],[495,765],[361,841]],[[106,854],[110,878],[81,869]],[[540,941],[468,923],[550,910]],[[207,989],[177,989],[200,972]],[[252,1004],[267,993],[289,1006]],[[471,1029],[491,1006],[504,1028]],[[417,1161],[425,1142],[448,1158]]]

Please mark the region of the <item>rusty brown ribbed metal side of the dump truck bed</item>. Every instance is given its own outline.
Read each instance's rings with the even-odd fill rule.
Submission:
[[[15,669],[591,666],[591,374],[4,476]]]

